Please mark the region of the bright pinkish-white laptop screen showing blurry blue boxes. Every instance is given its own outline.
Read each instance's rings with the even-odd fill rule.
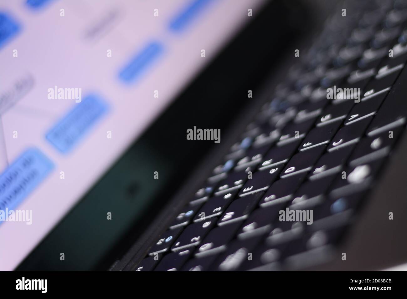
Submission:
[[[263,2],[0,4],[0,270],[18,266]]]

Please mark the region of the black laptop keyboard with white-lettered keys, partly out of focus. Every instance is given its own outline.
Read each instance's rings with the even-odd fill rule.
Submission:
[[[290,270],[335,252],[405,129],[407,1],[346,2],[304,56],[136,271]]]

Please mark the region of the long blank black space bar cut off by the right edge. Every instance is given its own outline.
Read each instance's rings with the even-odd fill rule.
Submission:
[[[407,68],[401,72],[396,84],[372,120],[368,128],[369,136],[389,131],[390,129],[405,124],[407,116],[407,101],[405,100],[405,94],[407,92],[406,80]]]

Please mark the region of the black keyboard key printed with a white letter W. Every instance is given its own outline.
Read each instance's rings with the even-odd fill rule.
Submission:
[[[218,221],[218,225],[225,225],[229,223],[234,223],[236,221],[245,220],[249,213],[254,210],[260,200],[262,192],[257,192],[254,194],[249,194],[236,199],[230,204],[228,209],[223,213]]]

